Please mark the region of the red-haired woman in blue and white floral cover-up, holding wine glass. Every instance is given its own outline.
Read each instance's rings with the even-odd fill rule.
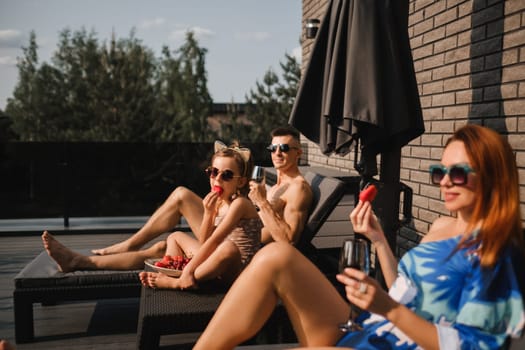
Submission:
[[[385,282],[347,268],[337,275],[350,303],[366,310],[362,330],[343,333],[350,307],[289,244],[263,248],[239,276],[194,349],[231,349],[249,339],[278,300],[305,347],[498,349],[525,323],[515,271],[524,256],[519,178],[513,151],[495,131],[466,125],[430,167],[445,208],[421,243],[398,263],[370,202],[350,214],[376,249]],[[522,273],[522,272],[521,272]],[[239,302],[242,301],[242,302]]]

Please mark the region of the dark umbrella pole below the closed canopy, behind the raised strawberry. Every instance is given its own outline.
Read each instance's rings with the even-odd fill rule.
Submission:
[[[399,198],[400,198],[400,163],[401,149],[393,149],[381,153],[379,180],[382,184],[381,195],[377,196],[376,215],[378,216],[390,248],[397,256],[397,232],[399,230]],[[376,267],[379,261],[376,256]],[[376,278],[383,285],[384,279],[380,268],[376,268]]]

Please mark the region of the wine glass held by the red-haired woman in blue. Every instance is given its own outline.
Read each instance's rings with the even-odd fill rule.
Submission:
[[[361,238],[351,238],[343,242],[339,256],[339,272],[347,267],[370,273],[370,249],[368,242]],[[350,305],[350,317],[339,325],[343,332],[359,330],[361,327],[353,321],[353,305]]]

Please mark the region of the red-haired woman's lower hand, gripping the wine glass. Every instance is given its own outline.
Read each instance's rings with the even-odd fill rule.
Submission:
[[[398,304],[375,279],[367,276],[363,271],[346,268],[336,278],[345,285],[348,301],[362,310],[385,316]]]

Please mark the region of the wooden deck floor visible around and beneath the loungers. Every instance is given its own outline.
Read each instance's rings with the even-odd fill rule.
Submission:
[[[73,249],[103,247],[128,234],[68,234],[60,241]],[[13,278],[42,251],[38,235],[0,237],[0,338],[15,344]],[[99,300],[34,307],[35,338],[17,349],[134,349],[139,299]],[[164,337],[166,344],[187,343],[196,334]],[[162,344],[161,344],[162,345]]]

